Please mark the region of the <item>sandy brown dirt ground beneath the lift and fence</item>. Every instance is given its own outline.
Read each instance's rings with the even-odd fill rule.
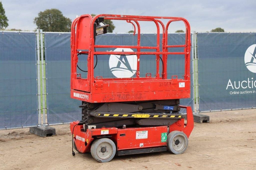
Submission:
[[[210,123],[195,123],[185,153],[115,156],[108,163],[90,153],[72,156],[69,125],[56,136],[39,137],[28,128],[0,131],[0,169],[255,169],[256,110],[212,112]]]

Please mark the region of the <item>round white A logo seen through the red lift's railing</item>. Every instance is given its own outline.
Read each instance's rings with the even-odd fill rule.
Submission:
[[[131,48],[116,48],[114,52],[133,52],[133,50]],[[137,71],[137,56],[111,54],[109,68],[117,78],[130,78]]]

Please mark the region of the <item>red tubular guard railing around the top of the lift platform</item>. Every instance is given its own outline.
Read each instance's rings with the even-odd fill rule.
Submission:
[[[78,33],[75,33],[75,30],[79,30],[79,25],[80,22],[82,21],[82,17],[89,17],[91,18],[90,15],[82,15],[79,18],[76,18],[72,25],[71,25],[71,62],[75,63],[72,64],[71,66],[71,77],[76,78],[76,65],[78,62]],[[94,44],[94,36],[93,36],[93,24],[95,20],[98,17],[104,17],[104,19],[110,19],[110,20],[126,20],[126,22],[131,23],[134,26],[134,34],[136,32],[136,25],[137,25],[137,45],[95,45]],[[164,26],[163,22],[159,19],[169,19],[167,22],[166,27]],[[134,24],[136,23],[136,24]],[[156,25],[157,29],[157,43],[156,46],[140,46],[140,24],[138,21],[153,21]],[[168,45],[168,27],[171,22],[174,21],[183,21],[186,26],[186,37],[185,37],[185,44],[184,45]],[[162,38],[162,52],[160,51],[160,31],[159,31],[159,24],[162,26],[163,29],[163,38]],[[77,28],[76,28],[77,27]],[[175,48],[175,47],[184,47],[184,52],[168,52],[168,48]],[[136,52],[104,52],[104,51],[97,51],[95,52],[93,49],[94,48],[134,48],[137,51]],[[155,52],[141,52],[141,49],[151,49],[151,50],[156,50]],[[184,74],[184,79],[185,80],[190,80],[190,26],[189,23],[186,19],[184,18],[179,18],[179,17],[151,17],[151,16],[130,16],[130,15],[108,15],[108,14],[100,14],[96,15],[93,18],[91,18],[91,23],[90,23],[90,50],[88,52],[81,52],[84,54],[88,54],[88,75],[87,79],[90,80],[91,82],[94,81],[94,55],[95,54],[134,54],[137,55],[137,72],[136,72],[136,77],[140,78],[139,70],[140,70],[140,55],[156,55],[156,79],[160,79],[159,76],[159,59],[160,55],[162,55],[163,59],[163,71],[162,71],[162,79],[167,79],[167,58],[168,55],[170,54],[183,54],[185,55],[185,74]],[[72,86],[72,83],[71,83]],[[71,87],[72,89],[72,87]]]

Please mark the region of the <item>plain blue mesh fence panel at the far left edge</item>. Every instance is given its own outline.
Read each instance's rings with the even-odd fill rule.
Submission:
[[[0,129],[36,126],[36,35],[0,34]]]

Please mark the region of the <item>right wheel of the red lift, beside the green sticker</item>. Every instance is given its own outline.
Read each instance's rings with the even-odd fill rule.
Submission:
[[[168,151],[174,154],[182,154],[188,147],[188,137],[180,131],[172,131],[167,136]]]

